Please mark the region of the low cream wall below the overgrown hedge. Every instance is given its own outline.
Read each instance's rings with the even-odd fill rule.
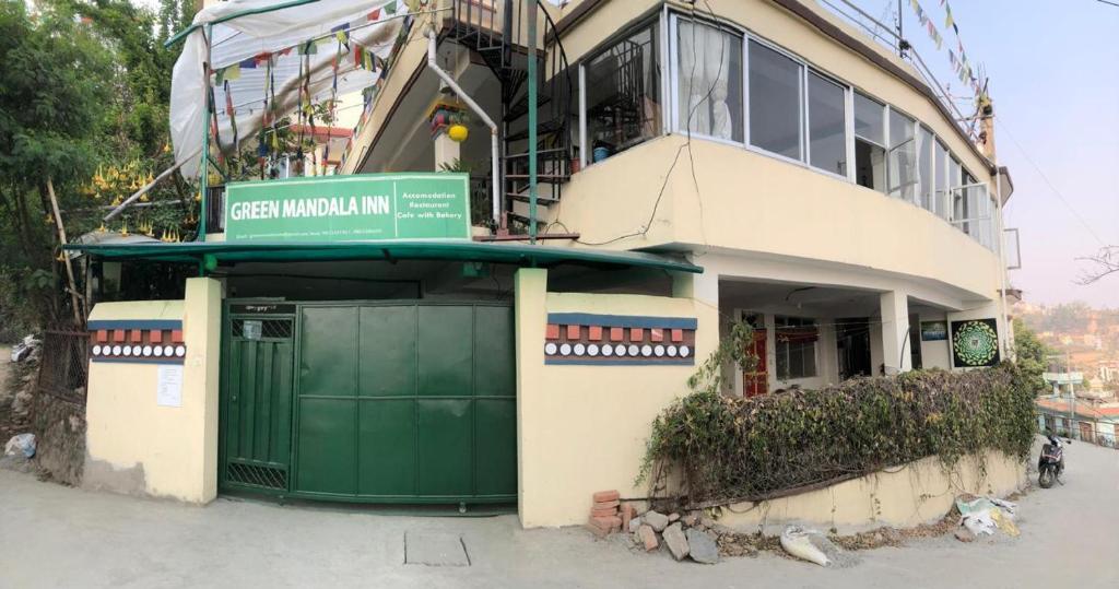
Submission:
[[[946,470],[924,458],[895,471],[883,470],[827,488],[768,502],[723,506],[720,523],[779,534],[790,523],[852,533],[881,526],[912,527],[943,517],[962,493],[1005,497],[1026,482],[1026,465],[1002,452],[966,457]]]

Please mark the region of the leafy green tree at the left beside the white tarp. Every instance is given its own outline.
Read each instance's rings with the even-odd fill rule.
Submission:
[[[0,336],[68,316],[47,179],[73,239],[170,166],[176,53],[160,37],[192,6],[163,0],[157,24],[128,0],[0,0]],[[189,227],[192,194],[164,183],[119,227]]]

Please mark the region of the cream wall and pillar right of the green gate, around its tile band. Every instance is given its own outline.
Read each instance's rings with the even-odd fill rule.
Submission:
[[[684,278],[683,280],[687,280]],[[546,366],[548,312],[695,317],[696,362],[718,340],[714,309],[690,298],[546,292],[545,270],[516,277],[517,459],[525,527],[585,523],[591,494],[634,486],[650,424],[687,392],[693,366]]]

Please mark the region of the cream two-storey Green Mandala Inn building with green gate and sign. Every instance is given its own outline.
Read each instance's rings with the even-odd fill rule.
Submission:
[[[93,310],[96,485],[573,524],[594,490],[647,495],[649,423],[733,320],[761,362],[728,395],[1009,357],[989,103],[962,127],[814,2],[251,3],[184,36],[182,161],[231,137],[192,100],[210,50],[241,76],[215,104],[264,71],[309,72],[275,109],[372,91],[336,176],[207,190],[197,242],[79,247],[199,274]]]

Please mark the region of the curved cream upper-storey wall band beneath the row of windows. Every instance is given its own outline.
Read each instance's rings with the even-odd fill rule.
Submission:
[[[925,277],[996,298],[998,256],[928,211],[801,166],[714,141],[668,135],[575,174],[547,209],[582,241],[610,247],[686,243]],[[693,180],[690,167],[695,167]],[[650,171],[656,170],[656,171]],[[698,183],[698,191],[695,183]]]

